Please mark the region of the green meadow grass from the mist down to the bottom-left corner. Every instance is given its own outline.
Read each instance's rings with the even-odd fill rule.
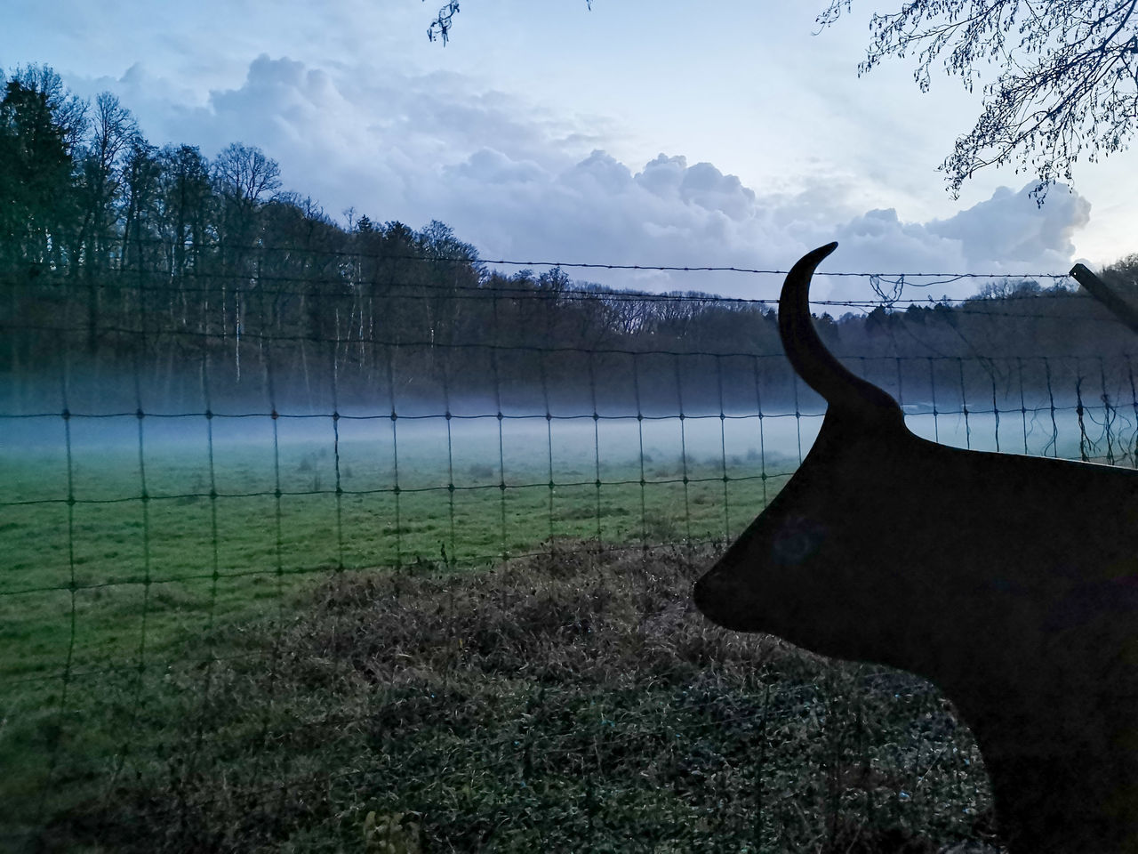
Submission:
[[[756,477],[753,454],[733,457],[725,483],[710,455],[655,450],[642,471],[627,454],[490,440],[451,459],[404,440],[398,493],[391,449],[361,442],[340,444],[338,466],[314,442],[217,443],[212,467],[200,442],[143,445],[141,459],[76,443],[69,467],[63,449],[0,455],[0,826],[50,814],[46,793],[67,804],[105,788],[142,750],[163,680],[240,654],[225,632],[287,619],[330,575],[489,568],[568,541],[718,540],[784,481]],[[59,763],[86,769],[61,793]]]

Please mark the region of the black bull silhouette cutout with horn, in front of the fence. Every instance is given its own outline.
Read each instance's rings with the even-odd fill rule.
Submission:
[[[1138,852],[1138,471],[947,447],[822,345],[799,261],[778,329],[828,403],[813,449],[695,585],[741,632],[937,683],[1014,854]]]

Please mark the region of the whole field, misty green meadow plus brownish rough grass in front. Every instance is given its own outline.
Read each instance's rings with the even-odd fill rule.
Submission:
[[[0,827],[67,851],[129,848],[124,828],[135,826],[147,828],[139,849],[187,849],[189,826],[203,835],[192,849],[217,847],[209,834],[239,849],[308,839],[296,844],[331,851],[349,837],[345,849],[358,849],[372,811],[380,824],[414,813],[432,845],[460,851],[489,839],[533,851],[555,830],[608,849],[601,840],[645,814],[659,816],[659,845],[612,849],[694,851],[718,828],[732,828],[732,851],[784,834],[815,848],[920,836],[929,822],[939,843],[982,837],[987,783],[929,685],[743,641],[690,613],[686,591],[710,559],[698,543],[750,522],[817,426],[23,424],[36,441],[0,457]],[[645,551],[673,543],[683,545]],[[913,703],[927,706],[916,724]],[[775,706],[778,722],[757,732],[757,709]],[[865,732],[846,744],[855,706]],[[724,729],[736,717],[749,723]],[[503,741],[514,729],[523,738]],[[677,745],[660,740],[673,730]],[[873,746],[881,738],[893,754]],[[529,758],[513,749],[526,744]],[[477,771],[494,763],[511,780],[523,769],[530,799]],[[906,775],[922,763],[915,787]],[[431,767],[451,777],[431,781]],[[876,781],[855,786],[852,806],[839,777],[863,772],[848,767]],[[349,771],[358,779],[335,782]],[[946,794],[933,772],[964,789]],[[756,779],[768,774],[780,808],[801,815],[757,806]],[[163,823],[171,810],[178,832]],[[479,824],[487,811],[497,830]]]

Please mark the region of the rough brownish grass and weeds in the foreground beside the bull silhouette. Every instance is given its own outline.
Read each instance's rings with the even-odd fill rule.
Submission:
[[[197,639],[239,657],[117,674],[107,726],[40,733],[59,762],[30,829],[68,852],[981,845],[979,754],[931,685],[710,627],[687,598],[709,558],[567,542],[325,577]]]

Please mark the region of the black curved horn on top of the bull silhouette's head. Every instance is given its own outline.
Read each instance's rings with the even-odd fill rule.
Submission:
[[[823,345],[810,319],[810,277],[836,243],[819,246],[791,268],[778,298],[778,335],[791,366],[831,407],[880,418],[901,416],[891,396],[846,370]]]

